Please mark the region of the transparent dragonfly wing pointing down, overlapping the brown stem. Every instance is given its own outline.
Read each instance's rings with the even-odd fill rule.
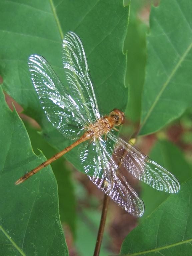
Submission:
[[[143,201],[118,172],[118,165],[100,137],[94,142],[84,142],[79,147],[80,160],[89,179],[115,203],[135,216],[144,212]]]

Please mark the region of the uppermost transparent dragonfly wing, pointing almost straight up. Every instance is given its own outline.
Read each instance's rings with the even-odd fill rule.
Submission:
[[[92,123],[100,118],[100,114],[85,51],[80,38],[75,33],[68,32],[65,35],[62,56],[69,93],[73,95],[79,108],[85,110],[88,122]]]

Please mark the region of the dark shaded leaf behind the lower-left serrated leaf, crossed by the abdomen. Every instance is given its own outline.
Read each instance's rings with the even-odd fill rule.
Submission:
[[[33,150],[39,154],[39,149],[43,152],[47,159],[57,153],[41,136],[41,134],[31,125],[25,122],[25,127],[29,134]],[[66,161],[61,157],[51,164],[51,168],[55,174],[58,191],[59,191],[59,215],[61,222],[65,222],[71,228],[73,235],[76,233],[76,199],[74,195],[74,187],[71,180],[71,172],[68,170]]]

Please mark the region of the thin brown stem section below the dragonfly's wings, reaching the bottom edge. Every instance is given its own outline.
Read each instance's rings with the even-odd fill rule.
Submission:
[[[101,214],[99,231],[97,234],[97,242],[95,245],[95,251],[94,251],[93,256],[99,256],[101,242],[102,242],[102,238],[103,238],[103,232],[104,232],[104,228],[105,228],[105,221],[106,221],[106,217],[107,217],[108,204],[109,204],[109,197],[106,194],[104,194],[103,209],[102,209],[102,214]]]

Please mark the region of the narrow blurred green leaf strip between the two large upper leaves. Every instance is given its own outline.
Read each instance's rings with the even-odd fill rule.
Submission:
[[[124,50],[127,51],[126,85],[129,86],[129,102],[125,116],[132,122],[139,122],[141,116],[141,96],[146,62],[145,34],[148,27],[138,19],[138,9],[143,2],[132,1]],[[139,8],[140,7],[140,8]],[[136,10],[135,10],[136,9]]]

